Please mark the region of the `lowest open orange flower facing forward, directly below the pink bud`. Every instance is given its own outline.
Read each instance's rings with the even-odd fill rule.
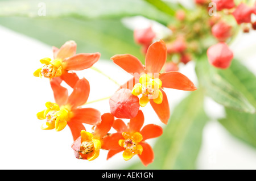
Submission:
[[[123,151],[125,161],[138,155],[144,166],[152,163],[154,151],[146,140],[161,136],[163,129],[155,124],[148,124],[142,128],[143,124],[144,115],[141,110],[138,111],[137,116],[130,119],[127,125],[123,120],[116,119],[113,128],[117,132],[103,138],[102,149],[109,150],[107,159]]]

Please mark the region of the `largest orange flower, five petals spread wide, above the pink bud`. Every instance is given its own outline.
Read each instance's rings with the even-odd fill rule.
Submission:
[[[185,91],[197,89],[193,82],[178,71],[160,73],[166,63],[166,58],[167,48],[163,40],[150,45],[145,58],[145,66],[131,54],[118,54],[111,58],[115,64],[134,76],[120,88],[130,89],[136,96],[142,95],[139,99],[141,107],[150,102],[164,124],[167,124],[170,117],[170,108],[163,88]]]

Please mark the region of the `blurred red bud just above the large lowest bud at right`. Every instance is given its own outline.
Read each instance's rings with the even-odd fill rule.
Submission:
[[[220,21],[212,27],[212,35],[219,41],[225,41],[231,36],[232,26]]]

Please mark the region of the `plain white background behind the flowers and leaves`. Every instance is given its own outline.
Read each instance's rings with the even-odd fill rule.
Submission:
[[[243,60],[254,74],[255,37],[255,33],[242,36],[239,44],[232,47],[237,57],[247,51]],[[54,102],[48,79],[33,76],[42,65],[40,58],[52,58],[51,46],[0,27],[0,52],[0,169],[118,169],[139,160],[135,156],[126,162],[121,154],[117,154],[106,161],[107,152],[103,150],[92,162],[76,159],[71,149],[73,140],[69,128],[61,132],[43,131],[40,125],[44,120],[36,118],[36,113],[45,109],[47,101]],[[111,61],[100,60],[95,66],[119,83],[130,78]],[[193,68],[194,64],[190,62],[181,68],[181,72],[197,85]],[[78,73],[80,78],[85,77],[90,82],[88,101],[110,96],[117,89],[113,82],[91,69]],[[187,92],[178,90],[166,93],[171,110],[187,95]],[[102,113],[110,111],[108,100],[86,107],[97,108]],[[214,119],[204,129],[198,169],[256,169],[255,149],[232,137],[216,121],[224,116],[222,106],[207,98],[205,111]],[[143,112],[147,123],[163,125],[150,106],[144,107]],[[154,140],[149,142],[154,144]]]

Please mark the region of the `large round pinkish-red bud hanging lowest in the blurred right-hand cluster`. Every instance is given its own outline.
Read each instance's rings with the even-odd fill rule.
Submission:
[[[233,52],[226,43],[220,42],[208,48],[207,56],[210,64],[216,68],[226,69],[231,64]]]

